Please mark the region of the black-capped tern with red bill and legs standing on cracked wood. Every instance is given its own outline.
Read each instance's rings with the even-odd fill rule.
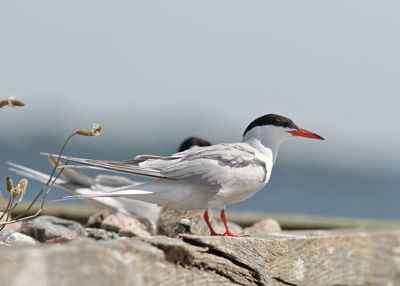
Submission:
[[[223,235],[236,236],[227,225],[225,205],[243,201],[260,191],[271,176],[279,145],[296,136],[323,140],[315,133],[300,129],[289,118],[267,114],[247,126],[239,143],[199,147],[168,157],[139,155],[121,162],[62,158],[86,165],[67,168],[101,169],[154,178],[139,186],[93,196],[124,197],[177,210],[205,209],[204,219],[211,235],[219,234],[209,221],[208,209],[221,208],[226,230]]]

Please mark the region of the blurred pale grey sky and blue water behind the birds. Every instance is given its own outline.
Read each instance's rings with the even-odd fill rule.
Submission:
[[[267,187],[228,209],[399,219],[399,9],[3,1],[0,99],[26,106],[0,110],[0,179],[11,174],[6,161],[50,172],[39,152],[58,152],[92,123],[101,136],[75,137],[66,154],[168,155],[192,135],[237,142],[253,119],[277,113],[326,141],[283,144]],[[40,187],[30,181],[30,198]]]

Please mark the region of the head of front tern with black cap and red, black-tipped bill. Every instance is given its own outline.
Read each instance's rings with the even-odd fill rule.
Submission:
[[[299,128],[291,119],[276,114],[267,114],[253,120],[243,133],[244,141],[257,138],[261,142],[274,145],[291,137],[325,140],[313,132]]]

